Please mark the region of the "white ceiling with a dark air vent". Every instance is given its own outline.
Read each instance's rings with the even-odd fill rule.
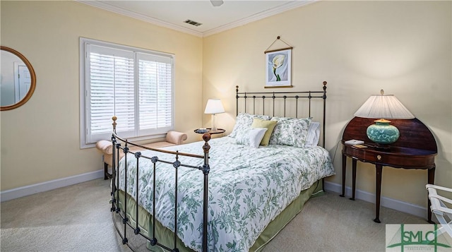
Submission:
[[[155,25],[205,37],[288,11],[316,0],[78,1],[107,11],[145,20]],[[192,20],[202,25],[191,25],[185,23],[186,20]]]

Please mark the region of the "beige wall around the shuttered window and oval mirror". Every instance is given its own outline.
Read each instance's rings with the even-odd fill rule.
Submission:
[[[175,54],[175,128],[198,140],[201,37],[76,1],[1,1],[1,45],[37,78],[25,105],[1,112],[1,191],[102,169],[95,148],[80,149],[79,37]]]

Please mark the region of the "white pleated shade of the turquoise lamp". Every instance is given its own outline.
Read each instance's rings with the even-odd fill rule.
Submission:
[[[381,90],[383,92],[383,90]],[[413,119],[415,116],[394,95],[371,95],[355,116],[374,119]]]

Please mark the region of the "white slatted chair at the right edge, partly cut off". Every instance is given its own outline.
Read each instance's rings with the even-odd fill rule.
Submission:
[[[445,203],[452,205],[452,200],[444,196],[440,196],[437,191],[447,191],[452,192],[452,188],[446,188],[443,186],[435,186],[432,184],[427,184],[425,186],[429,192],[429,200],[432,205],[430,209],[432,213],[438,219],[441,228],[436,230],[436,235],[440,235],[447,232],[449,236],[452,237],[452,208],[448,208]]]

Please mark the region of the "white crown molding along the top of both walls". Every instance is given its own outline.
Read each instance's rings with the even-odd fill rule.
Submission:
[[[213,28],[213,29],[210,29],[210,30],[206,30],[205,32],[198,32],[197,30],[191,30],[189,28],[185,28],[185,27],[180,26],[180,25],[174,25],[172,23],[168,23],[168,22],[165,22],[165,21],[157,19],[157,18],[152,18],[152,17],[149,17],[149,16],[145,16],[143,14],[136,13],[136,12],[133,12],[133,11],[127,11],[127,10],[124,10],[123,8],[118,8],[116,6],[105,4],[105,2],[101,2],[101,1],[93,1],[93,0],[76,0],[76,1],[78,1],[79,3],[82,3],[82,4],[87,4],[89,6],[102,8],[102,9],[104,9],[106,11],[112,11],[114,13],[119,13],[119,14],[124,15],[124,16],[129,16],[131,18],[136,18],[138,20],[143,20],[143,21],[148,22],[148,23],[153,23],[154,25],[158,25],[158,26],[161,26],[161,27],[164,27],[164,28],[177,30],[179,32],[185,32],[185,33],[188,33],[190,35],[195,35],[197,37],[207,37],[207,36],[210,36],[210,35],[214,35],[215,33],[223,32],[225,30],[230,30],[232,28],[236,28],[236,27],[239,27],[241,25],[246,25],[247,23],[251,23],[251,22],[254,22],[256,20],[261,20],[263,18],[267,18],[269,16],[273,16],[273,15],[276,15],[276,14],[279,14],[279,13],[283,13],[285,11],[289,11],[289,10],[291,10],[293,8],[298,8],[300,6],[305,6],[307,4],[312,4],[312,3],[316,2],[316,1],[321,1],[321,0],[300,0],[300,1],[299,0],[295,0],[295,1],[290,1],[287,4],[283,4],[283,5],[278,6],[276,8],[270,8],[267,11],[261,11],[260,13],[256,13],[256,14],[254,14],[252,16],[247,17],[247,18],[242,18],[240,20],[228,23],[226,25],[221,25],[218,28]]]

